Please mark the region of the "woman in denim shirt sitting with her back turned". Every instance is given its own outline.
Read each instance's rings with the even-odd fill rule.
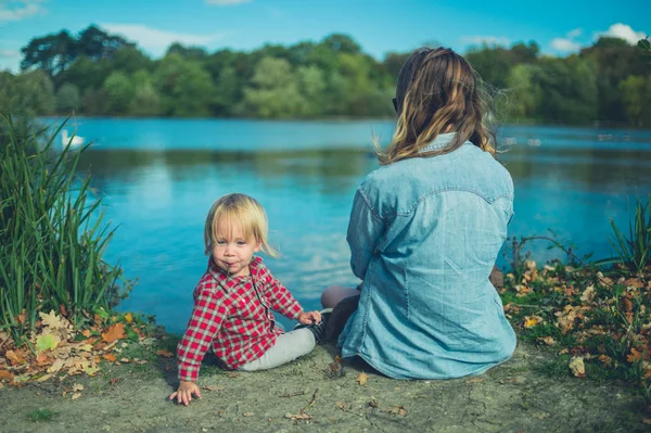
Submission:
[[[398,78],[397,125],[381,167],[357,189],[347,241],[358,290],[331,286],[329,333],[395,379],[480,374],[515,334],[488,277],[513,215],[478,78],[449,49],[419,49]],[[346,320],[346,317],[344,317]],[[342,323],[343,324],[343,323]]]

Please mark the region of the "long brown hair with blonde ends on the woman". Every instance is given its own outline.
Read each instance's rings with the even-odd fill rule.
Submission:
[[[495,156],[487,125],[490,98],[475,71],[448,48],[420,48],[405,62],[396,87],[398,119],[386,151],[375,141],[382,165],[451,152],[471,141]],[[457,132],[443,149],[420,152],[439,133]]]

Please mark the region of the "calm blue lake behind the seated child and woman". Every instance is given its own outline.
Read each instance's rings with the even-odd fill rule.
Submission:
[[[306,309],[320,308],[327,285],[356,284],[345,240],[350,204],[378,166],[372,136],[386,143],[393,122],[79,118],[76,127],[93,141],[81,170],[92,174],[117,227],[105,258],[138,279],[122,309],[182,332],[207,264],[207,211],[234,191],[267,209],[271,244],[282,253],[267,265]],[[610,218],[627,231],[635,195],[651,193],[649,130],[506,126],[498,141],[515,183],[510,235],[552,229],[579,255],[608,257]],[[533,258],[563,257],[547,246],[532,243]]]

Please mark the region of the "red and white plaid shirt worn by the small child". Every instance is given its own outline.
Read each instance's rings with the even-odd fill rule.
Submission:
[[[254,257],[248,268],[251,276],[228,276],[210,257],[208,270],[194,289],[192,317],[177,346],[179,380],[196,382],[210,347],[231,369],[259,358],[282,333],[271,310],[290,319],[303,311],[260,257]]]

